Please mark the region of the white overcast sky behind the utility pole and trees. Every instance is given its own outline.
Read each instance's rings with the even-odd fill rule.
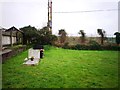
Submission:
[[[118,31],[119,0],[52,0],[53,1],[53,34],[65,29],[68,35],[77,35],[84,30],[87,36],[96,36],[97,29],[106,31],[108,36]],[[47,25],[48,0],[1,0],[0,26],[35,26]],[[113,11],[107,11],[107,10]],[[104,10],[99,12],[84,12]],[[79,11],[79,13],[74,13]],[[83,11],[83,12],[82,12]],[[55,13],[72,12],[72,13]]]

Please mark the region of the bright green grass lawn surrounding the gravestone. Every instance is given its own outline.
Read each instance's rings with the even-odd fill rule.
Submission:
[[[7,60],[3,88],[115,88],[117,51],[78,51],[46,46],[38,66],[23,65],[28,51]]]

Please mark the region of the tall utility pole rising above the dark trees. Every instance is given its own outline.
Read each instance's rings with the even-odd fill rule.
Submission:
[[[48,0],[48,29],[52,34],[52,0]]]

